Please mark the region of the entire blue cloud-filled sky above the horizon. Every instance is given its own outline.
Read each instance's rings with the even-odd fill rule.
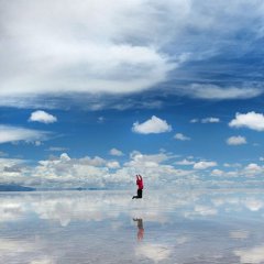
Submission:
[[[262,186],[260,0],[0,1],[0,184]]]

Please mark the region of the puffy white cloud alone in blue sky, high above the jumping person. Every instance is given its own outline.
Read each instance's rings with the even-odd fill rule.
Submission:
[[[132,131],[140,134],[160,134],[172,131],[172,125],[166,120],[162,120],[155,116],[143,123],[138,121],[133,123]]]

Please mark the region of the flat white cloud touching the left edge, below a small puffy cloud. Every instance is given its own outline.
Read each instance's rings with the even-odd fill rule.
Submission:
[[[0,144],[19,141],[35,142],[45,140],[47,134],[45,131],[0,124]]]

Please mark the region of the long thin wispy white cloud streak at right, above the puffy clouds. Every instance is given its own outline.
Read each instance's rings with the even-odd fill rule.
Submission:
[[[206,100],[230,100],[254,98],[263,94],[260,88],[219,87],[216,85],[193,84],[182,91],[187,96]]]

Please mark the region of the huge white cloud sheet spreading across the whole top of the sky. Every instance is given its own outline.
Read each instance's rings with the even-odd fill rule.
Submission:
[[[243,58],[246,53],[260,55],[263,4],[241,1],[230,2],[229,12],[226,4],[208,0],[77,0],[66,4],[57,0],[56,7],[52,0],[1,2],[0,105],[26,107],[37,101],[38,106],[63,107],[54,100],[46,103],[46,97],[141,92],[175,78],[175,82],[184,78],[187,85],[173,84],[176,88],[170,92],[193,98],[260,96],[261,88],[244,84],[255,81],[257,67],[246,73],[249,63]],[[241,7],[251,12],[245,14]],[[238,37],[244,32],[250,40]],[[233,48],[238,43],[239,51]],[[238,87],[229,85],[234,82],[229,75],[239,80]],[[223,86],[210,84],[218,78]],[[106,107],[100,100],[95,105]]]

